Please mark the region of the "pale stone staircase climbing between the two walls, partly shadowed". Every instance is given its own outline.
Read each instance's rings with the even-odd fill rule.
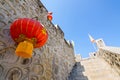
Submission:
[[[97,57],[76,62],[68,80],[120,80],[120,76],[107,62]]]

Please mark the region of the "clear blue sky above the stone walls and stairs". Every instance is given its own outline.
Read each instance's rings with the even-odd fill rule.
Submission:
[[[88,57],[95,49],[94,39],[103,38],[107,46],[120,46],[120,0],[41,0],[53,12],[65,39],[73,40],[75,53]]]

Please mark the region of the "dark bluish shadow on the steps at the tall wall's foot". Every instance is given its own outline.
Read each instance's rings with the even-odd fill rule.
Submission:
[[[69,74],[68,80],[88,80],[87,76],[84,76],[84,67],[80,62],[76,62],[72,71]]]

